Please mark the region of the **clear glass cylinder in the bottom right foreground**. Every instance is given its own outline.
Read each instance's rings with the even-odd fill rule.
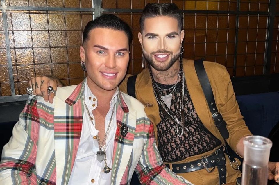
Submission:
[[[241,185],[267,185],[272,142],[263,136],[246,136]]]

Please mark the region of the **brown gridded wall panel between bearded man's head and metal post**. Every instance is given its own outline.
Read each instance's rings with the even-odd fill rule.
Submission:
[[[185,14],[183,57],[218,62],[233,75],[235,24],[235,15]]]

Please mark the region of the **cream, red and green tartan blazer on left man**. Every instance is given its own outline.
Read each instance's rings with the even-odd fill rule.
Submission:
[[[58,88],[53,104],[29,96],[3,147],[0,184],[68,184],[81,136],[85,82]],[[111,184],[130,184],[134,170],[142,184],[189,183],[163,165],[153,124],[138,100],[119,93],[116,114]],[[126,137],[122,124],[129,129]]]

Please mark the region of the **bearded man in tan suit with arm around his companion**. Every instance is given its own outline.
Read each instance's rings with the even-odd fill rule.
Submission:
[[[137,75],[135,97],[145,105],[154,125],[156,141],[164,163],[193,184],[225,184],[241,175],[230,165],[224,152],[225,139],[213,122],[212,114],[198,80],[194,61],[182,59],[183,15],[175,4],[147,4],[140,18],[138,38],[148,68]],[[226,67],[204,61],[205,71],[218,111],[226,121],[226,142],[243,156],[244,136],[251,135],[239,111]],[[127,93],[127,75],[120,90]],[[36,77],[30,86],[41,81],[56,87],[58,79]],[[51,96],[45,97],[50,102]],[[235,169],[234,169],[235,168]],[[279,165],[270,163],[277,174]],[[279,175],[269,174],[270,179]],[[277,181],[279,182],[279,181]]]

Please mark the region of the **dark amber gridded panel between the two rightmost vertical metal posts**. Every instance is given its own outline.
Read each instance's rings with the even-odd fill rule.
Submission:
[[[264,74],[267,20],[264,15],[239,15],[236,76]]]

